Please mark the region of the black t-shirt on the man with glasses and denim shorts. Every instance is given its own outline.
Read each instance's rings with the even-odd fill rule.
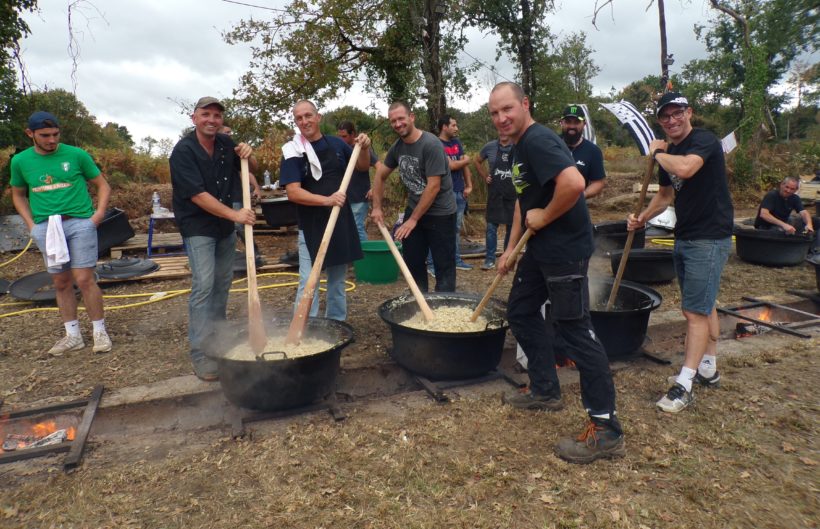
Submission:
[[[669,154],[695,154],[703,159],[703,167],[691,178],[658,171],[662,186],[675,189],[675,238],[681,240],[723,239],[732,235],[734,207],[726,180],[723,146],[717,137],[705,129],[692,129],[677,145],[669,144]]]

